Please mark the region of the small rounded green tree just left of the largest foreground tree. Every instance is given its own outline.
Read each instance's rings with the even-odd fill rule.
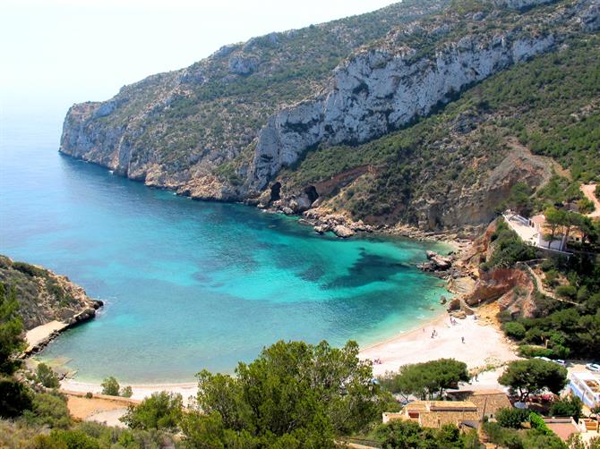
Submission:
[[[184,410],[181,394],[153,393],[137,406],[130,405],[120,420],[130,428],[175,429]]]

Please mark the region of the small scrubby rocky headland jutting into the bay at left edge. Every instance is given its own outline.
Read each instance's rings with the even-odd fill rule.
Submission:
[[[15,289],[25,331],[54,320],[73,325],[94,317],[102,305],[66,276],[5,256],[0,256],[0,282]]]

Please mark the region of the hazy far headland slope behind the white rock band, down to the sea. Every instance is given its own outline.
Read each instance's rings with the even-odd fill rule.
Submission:
[[[222,47],[185,69],[71,107],[60,151],[194,198],[241,199],[223,168],[271,114],[321,89],[339,60],[450,0],[407,0],[374,13]],[[227,174],[231,176],[227,177]]]

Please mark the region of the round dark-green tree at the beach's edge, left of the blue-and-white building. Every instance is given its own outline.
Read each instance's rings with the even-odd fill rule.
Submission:
[[[567,369],[552,361],[514,360],[498,377],[498,382],[509,386],[513,394],[518,392],[519,402],[525,402],[530,394],[538,394],[544,388],[559,394],[567,385]]]

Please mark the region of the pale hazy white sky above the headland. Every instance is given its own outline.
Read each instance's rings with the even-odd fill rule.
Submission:
[[[62,120],[75,102],[179,69],[270,31],[373,11],[393,0],[2,0],[0,119]]]

